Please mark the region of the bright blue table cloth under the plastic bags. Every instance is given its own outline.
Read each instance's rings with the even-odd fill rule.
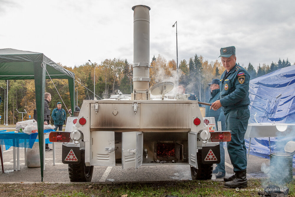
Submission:
[[[55,131],[53,129],[46,129],[44,133],[50,133],[50,131]],[[5,149],[8,150],[11,146],[22,147],[22,148],[32,148],[38,133],[32,133],[28,135],[27,133],[14,133],[0,131],[0,144],[5,145]],[[18,141],[17,141],[18,139]],[[49,139],[45,139],[45,144],[52,144]]]

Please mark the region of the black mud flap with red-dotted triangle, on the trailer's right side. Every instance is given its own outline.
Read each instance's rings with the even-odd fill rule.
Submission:
[[[218,164],[220,163],[219,144],[216,146],[202,147],[202,163],[203,164]]]

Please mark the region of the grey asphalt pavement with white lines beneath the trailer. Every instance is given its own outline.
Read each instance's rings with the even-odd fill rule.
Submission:
[[[52,147],[51,144],[49,144]],[[5,146],[4,146],[5,147]],[[55,165],[53,165],[53,152],[45,152],[45,170],[43,181],[51,183],[70,183],[68,176],[68,165],[61,161],[61,143],[55,144]],[[20,148],[20,170],[13,170],[12,147],[3,150],[4,173],[0,171],[0,182],[40,182],[40,167],[28,168],[24,164],[24,149]],[[225,170],[226,175],[233,173],[232,165],[226,151]],[[269,165],[269,159],[250,155],[247,167],[247,178],[267,177],[261,171],[261,165]],[[215,165],[214,165],[215,168]],[[293,169],[293,175],[295,169]],[[215,179],[213,175],[212,179]],[[137,170],[129,168],[122,170],[122,166],[105,167],[94,166],[92,182],[153,182],[153,181],[173,181],[191,180],[189,165],[148,165],[141,166]]]

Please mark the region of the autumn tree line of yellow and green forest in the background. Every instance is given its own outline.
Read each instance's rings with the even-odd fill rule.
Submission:
[[[131,94],[133,91],[132,64],[126,59],[105,59],[100,64],[86,62],[83,65],[74,67],[65,66],[61,63],[58,64],[75,73],[75,102],[79,107],[81,107],[83,100],[91,100],[94,97],[97,97],[97,99],[109,98],[110,95],[116,94],[117,90],[120,90],[123,94]],[[172,92],[176,93],[176,61],[174,59],[167,61],[159,54],[157,57],[153,56],[150,66],[150,87],[160,82],[172,81],[175,84]],[[254,79],[287,66],[291,66],[288,58],[286,61],[279,59],[278,63],[272,62],[271,65],[259,65],[257,70],[249,62],[248,67],[245,69],[249,72],[251,79]],[[210,90],[207,84],[214,78],[220,78],[223,71],[224,68],[220,61],[208,62],[201,55],[198,56],[195,54],[188,61],[183,59],[179,62],[178,83],[186,87],[186,93],[193,93],[200,101],[207,102],[210,98]],[[58,92],[53,84],[58,89]],[[0,86],[6,89],[7,80],[0,80]],[[6,102],[4,102],[4,89],[1,88],[0,90],[2,97],[0,106],[0,115],[2,116],[1,124],[4,124],[4,103]],[[67,109],[71,108],[67,79],[53,79],[52,81],[46,79],[45,92],[51,94],[52,100],[49,103],[51,110],[56,108],[57,102],[63,103],[62,108],[66,112]],[[33,117],[35,108],[34,80],[8,80],[8,124],[15,124],[18,121],[22,121],[22,114],[17,113],[17,110],[24,112],[25,109],[27,114],[24,114],[24,120],[28,120],[29,115],[31,115],[31,118]],[[51,123],[53,124],[53,121]]]

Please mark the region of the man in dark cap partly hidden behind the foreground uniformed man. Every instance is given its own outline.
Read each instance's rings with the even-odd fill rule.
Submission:
[[[209,83],[208,85],[210,86],[210,90],[211,90],[211,98],[209,99],[208,103],[213,103],[219,97],[219,92],[220,92],[219,79],[212,79],[212,82]],[[222,131],[226,130],[225,117],[224,117],[222,108],[219,108],[218,110],[212,110],[210,109],[210,106],[207,105],[205,117],[214,117],[216,126],[217,126],[217,121],[221,121]],[[218,163],[215,170],[213,170],[213,173],[217,173],[216,175],[217,179],[223,178],[225,176],[223,142],[219,142],[219,146],[220,146],[220,163]]]

